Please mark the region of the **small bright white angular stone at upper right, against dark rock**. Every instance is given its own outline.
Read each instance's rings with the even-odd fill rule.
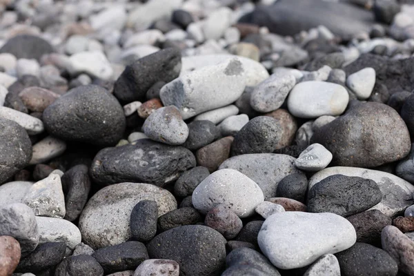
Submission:
[[[367,67],[348,76],[346,86],[350,88],[358,99],[368,99],[375,86],[375,70]]]

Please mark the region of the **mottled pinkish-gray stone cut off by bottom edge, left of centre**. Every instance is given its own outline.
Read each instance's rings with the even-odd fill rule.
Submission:
[[[179,276],[179,264],[172,259],[146,259],[134,271],[133,276]]]

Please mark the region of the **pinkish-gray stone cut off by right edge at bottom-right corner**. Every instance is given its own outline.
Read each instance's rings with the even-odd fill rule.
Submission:
[[[395,226],[386,226],[381,233],[382,249],[397,262],[398,269],[414,275],[414,242]]]

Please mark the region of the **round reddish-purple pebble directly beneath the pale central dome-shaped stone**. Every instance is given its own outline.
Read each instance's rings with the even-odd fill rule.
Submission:
[[[226,239],[235,238],[243,228],[242,219],[224,205],[208,211],[204,225],[217,230]]]

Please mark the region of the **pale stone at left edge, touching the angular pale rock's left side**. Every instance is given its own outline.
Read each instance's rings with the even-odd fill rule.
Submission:
[[[0,186],[0,206],[21,203],[24,195],[34,184],[32,181],[12,181]]]

